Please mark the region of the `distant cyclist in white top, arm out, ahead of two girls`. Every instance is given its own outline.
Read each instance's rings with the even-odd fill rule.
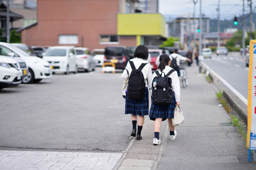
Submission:
[[[178,55],[178,49],[174,49],[174,53],[172,53],[170,56],[170,60],[171,60],[171,67],[173,67],[173,69],[175,69],[178,73],[178,77],[181,76],[181,72],[180,72],[180,65],[181,65],[181,61],[188,61],[191,62],[191,60],[187,57],[183,57],[182,55]],[[176,61],[176,62],[175,62]]]

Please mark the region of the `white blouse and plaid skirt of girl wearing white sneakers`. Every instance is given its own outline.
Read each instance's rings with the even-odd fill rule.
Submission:
[[[171,71],[171,67],[166,66],[163,72],[165,74],[168,74]],[[159,72],[161,74],[161,71],[159,69],[156,70],[156,72]],[[152,81],[156,77],[156,73],[153,74]],[[156,118],[162,118],[162,120],[166,120],[167,118],[174,118],[174,109],[176,107],[176,101],[179,102],[181,98],[181,87],[178,80],[178,74],[177,72],[173,72],[170,76],[171,78],[171,86],[173,88],[173,97],[170,105],[165,106],[159,106],[154,105],[154,103],[151,103],[151,108],[149,111],[149,118],[151,120],[155,120]]]

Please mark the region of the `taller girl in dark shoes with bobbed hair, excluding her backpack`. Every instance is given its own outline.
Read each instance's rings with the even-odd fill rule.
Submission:
[[[132,137],[136,137],[137,140],[142,140],[142,128],[144,125],[144,116],[149,115],[149,89],[151,88],[151,79],[152,79],[152,72],[151,72],[151,64],[146,60],[149,57],[149,50],[144,45],[139,45],[135,52],[134,58],[129,60],[127,66],[122,73],[122,78],[124,79],[124,87],[122,91],[122,95],[125,98],[125,114],[132,115]],[[129,84],[129,77],[131,77],[132,73],[132,65],[131,62],[134,64],[136,69],[144,63],[144,67],[142,69],[142,74],[144,77],[145,82],[145,90],[144,96],[142,99],[132,99],[128,98],[127,94],[127,84]],[[128,85],[129,86],[129,85]],[[138,119],[139,117],[139,119]],[[138,128],[137,128],[138,122]],[[137,135],[136,135],[137,132]]]

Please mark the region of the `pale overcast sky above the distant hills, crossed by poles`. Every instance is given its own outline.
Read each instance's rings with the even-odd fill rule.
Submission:
[[[202,13],[207,17],[217,18],[216,8],[218,0],[201,0]],[[199,3],[196,4],[196,17],[199,16]],[[256,6],[256,0],[252,0],[252,9]],[[250,8],[245,0],[245,13],[249,12]],[[171,18],[177,16],[193,16],[193,0],[159,0],[159,12],[163,15],[171,15]],[[254,11],[255,12],[255,11]],[[242,15],[242,0],[220,0],[220,19],[230,19],[234,16]]]

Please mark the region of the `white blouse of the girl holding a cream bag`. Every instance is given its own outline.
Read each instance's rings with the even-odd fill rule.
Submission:
[[[163,70],[163,72],[165,74],[168,74],[168,72],[170,72],[171,69],[172,69],[171,67],[166,66],[165,69]],[[156,71],[158,71],[161,74],[160,69],[157,69]],[[156,77],[156,73],[153,74],[153,78],[151,81],[153,81],[154,77]],[[173,72],[169,77],[171,78],[171,86],[172,86],[174,94],[175,94],[175,99],[176,99],[176,101],[180,102],[181,86],[179,84],[178,74],[177,74],[177,72]]]

